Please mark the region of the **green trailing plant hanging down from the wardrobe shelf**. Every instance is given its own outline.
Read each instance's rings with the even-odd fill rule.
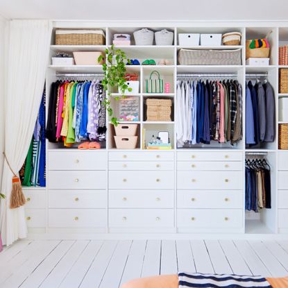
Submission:
[[[121,92],[120,96],[115,96],[115,100],[120,98],[125,98],[125,92],[131,91],[131,88],[126,84],[126,62],[130,64],[130,60],[127,59],[126,53],[121,49],[115,49],[112,45],[110,49],[105,49],[105,59],[106,62],[103,63],[102,69],[104,72],[104,77],[102,80],[103,90],[105,90],[107,97],[104,100],[104,105],[108,111],[108,115],[111,119],[111,123],[115,126],[118,125],[117,117],[113,116],[113,110],[111,108],[111,93],[112,90],[118,88]],[[101,55],[98,61],[104,60],[104,56]]]

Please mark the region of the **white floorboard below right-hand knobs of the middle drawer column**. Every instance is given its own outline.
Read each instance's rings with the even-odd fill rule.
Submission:
[[[141,276],[156,276],[160,274],[161,241],[148,240]]]

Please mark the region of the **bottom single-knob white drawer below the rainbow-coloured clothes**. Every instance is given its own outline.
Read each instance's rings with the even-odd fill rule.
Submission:
[[[49,227],[103,228],[106,223],[105,209],[49,209]]]

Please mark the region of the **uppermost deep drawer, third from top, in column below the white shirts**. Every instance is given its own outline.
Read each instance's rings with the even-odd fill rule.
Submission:
[[[236,171],[178,171],[178,189],[238,190],[242,189],[242,172]]]

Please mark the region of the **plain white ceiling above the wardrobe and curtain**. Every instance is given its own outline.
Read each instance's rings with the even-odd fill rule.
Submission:
[[[0,0],[10,19],[276,20],[287,0]]]

